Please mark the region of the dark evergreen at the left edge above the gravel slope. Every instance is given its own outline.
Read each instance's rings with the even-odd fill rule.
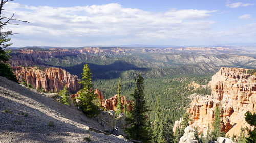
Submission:
[[[9,47],[10,45],[12,45],[11,43],[8,43],[11,39],[7,38],[9,35],[12,34],[12,31],[7,31],[7,32],[3,32],[2,29],[5,25],[11,24],[9,23],[10,20],[12,20],[11,18],[7,18],[7,17],[3,17],[3,13],[2,10],[4,4],[8,2],[7,1],[1,1],[0,4],[0,76],[6,77],[9,80],[12,80],[14,82],[18,82],[16,76],[14,75],[14,73],[12,72],[12,68],[10,67],[10,65],[7,63],[7,61],[10,58],[9,53],[11,51],[6,51],[5,48]],[[7,21],[2,21],[2,20],[6,20]]]

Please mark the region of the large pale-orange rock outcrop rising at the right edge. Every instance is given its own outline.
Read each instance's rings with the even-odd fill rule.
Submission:
[[[215,107],[220,104],[222,131],[230,136],[239,135],[241,127],[249,127],[244,114],[256,112],[256,76],[247,72],[248,69],[222,67],[212,76],[209,83],[212,94],[195,97],[187,110],[193,120],[190,126],[206,134],[214,120]]]

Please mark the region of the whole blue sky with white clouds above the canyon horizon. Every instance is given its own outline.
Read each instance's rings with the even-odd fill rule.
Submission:
[[[12,47],[256,42],[256,0],[15,0]]]

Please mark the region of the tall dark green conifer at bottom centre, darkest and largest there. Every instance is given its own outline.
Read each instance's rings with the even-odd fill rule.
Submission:
[[[150,125],[146,117],[146,112],[149,110],[144,95],[144,78],[141,74],[133,74],[133,76],[136,89],[131,94],[133,97],[133,110],[130,111],[129,116],[126,118],[127,123],[131,126],[126,129],[126,133],[129,139],[150,142]]]

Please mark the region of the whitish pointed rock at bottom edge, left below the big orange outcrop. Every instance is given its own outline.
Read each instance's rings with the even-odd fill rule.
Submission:
[[[179,143],[198,143],[194,133],[195,129],[187,126],[185,128],[184,135],[180,138]]]

